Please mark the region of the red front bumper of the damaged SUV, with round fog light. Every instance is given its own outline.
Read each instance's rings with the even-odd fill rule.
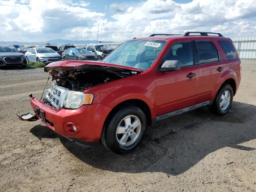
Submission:
[[[71,140],[85,142],[100,140],[105,119],[111,111],[110,107],[102,104],[84,105],[75,110],[57,110],[35,98],[31,98],[30,103],[34,112],[38,109],[44,112],[45,119],[38,118],[50,129]],[[72,130],[73,125],[77,128],[76,132]]]

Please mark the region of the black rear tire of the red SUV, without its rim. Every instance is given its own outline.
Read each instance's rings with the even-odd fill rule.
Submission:
[[[220,107],[220,102],[222,102],[222,98],[221,97],[224,94],[224,92],[229,92],[230,93],[230,103],[227,106],[227,108],[223,108],[222,109]],[[232,105],[233,96],[234,96],[234,92],[233,92],[232,87],[229,84],[224,85],[222,88],[220,88],[218,94],[216,95],[214,103],[209,106],[210,112],[212,112],[214,114],[217,114],[217,115],[224,115],[224,114],[226,114],[230,110],[230,107]]]

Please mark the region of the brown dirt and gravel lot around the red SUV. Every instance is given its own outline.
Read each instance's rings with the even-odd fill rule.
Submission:
[[[256,62],[242,62],[230,112],[207,108],[149,127],[140,148],[115,155],[83,148],[40,121],[29,94],[40,97],[42,68],[0,70],[0,191],[256,191]]]

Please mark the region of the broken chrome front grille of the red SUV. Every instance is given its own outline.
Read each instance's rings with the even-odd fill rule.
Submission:
[[[45,103],[56,109],[62,108],[67,91],[67,88],[59,87],[57,84],[53,83],[52,88],[46,91],[46,99],[48,102]]]

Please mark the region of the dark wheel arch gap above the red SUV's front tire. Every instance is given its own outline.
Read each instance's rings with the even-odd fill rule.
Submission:
[[[120,110],[121,108],[124,108],[125,106],[128,105],[133,105],[133,106],[137,106],[139,107],[145,114],[146,116],[146,120],[147,120],[147,124],[148,126],[152,125],[152,115],[151,115],[151,111],[150,108],[148,106],[148,104],[146,104],[146,102],[144,102],[143,100],[140,99],[128,99],[128,100],[124,100],[122,102],[120,102],[119,104],[117,104],[114,108],[112,108],[112,110],[109,112],[104,124],[106,122],[108,122],[110,120],[110,118],[112,116],[114,116],[114,114]]]

